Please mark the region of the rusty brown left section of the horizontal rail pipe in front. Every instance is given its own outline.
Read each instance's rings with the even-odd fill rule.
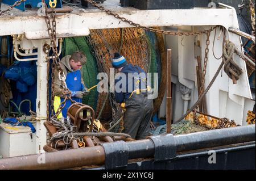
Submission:
[[[70,149],[51,153],[25,155],[0,159],[0,170],[71,169],[75,167],[104,165],[102,146]]]

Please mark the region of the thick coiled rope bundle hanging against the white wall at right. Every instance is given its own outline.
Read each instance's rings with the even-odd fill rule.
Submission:
[[[224,61],[224,71],[229,76],[229,78],[235,78],[238,80],[243,70],[234,62],[233,54],[235,53],[236,46],[229,40],[226,40],[226,44],[223,48],[223,61]]]

